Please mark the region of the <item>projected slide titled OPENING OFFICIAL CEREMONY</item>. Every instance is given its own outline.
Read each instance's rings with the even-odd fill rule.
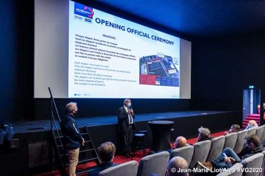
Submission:
[[[69,98],[179,99],[180,64],[180,38],[69,1]]]

